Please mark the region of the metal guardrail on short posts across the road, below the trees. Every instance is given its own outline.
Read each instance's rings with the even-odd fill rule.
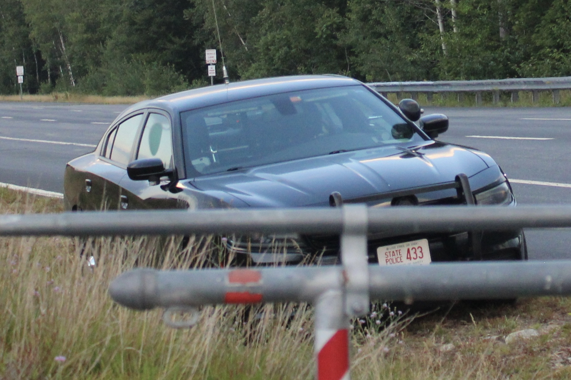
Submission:
[[[571,89],[571,76],[546,78],[514,78],[487,80],[441,80],[441,81],[407,81],[368,83],[377,92],[387,96],[388,93],[410,93],[416,99],[418,93],[426,93],[432,100],[433,93],[455,92],[459,100],[465,93],[475,93],[476,103],[482,103],[482,92],[492,92],[493,102],[500,101],[500,91],[511,92],[511,101],[519,100],[519,91],[531,91],[532,101],[537,103],[540,91],[551,91],[553,103],[560,103],[559,90]],[[400,96],[402,97],[402,96]]]

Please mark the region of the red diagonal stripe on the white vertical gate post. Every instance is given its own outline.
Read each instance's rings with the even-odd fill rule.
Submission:
[[[317,354],[317,380],[341,380],[348,373],[349,336],[347,329],[337,330]]]

